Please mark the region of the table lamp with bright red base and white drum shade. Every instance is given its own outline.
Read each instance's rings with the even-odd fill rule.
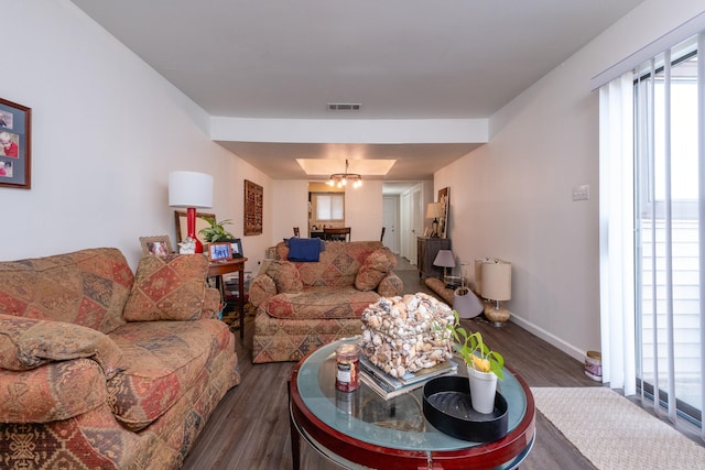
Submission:
[[[213,176],[196,172],[171,172],[169,205],[186,208],[187,237],[194,240],[195,252],[203,253],[203,243],[196,237],[196,209],[213,207]]]

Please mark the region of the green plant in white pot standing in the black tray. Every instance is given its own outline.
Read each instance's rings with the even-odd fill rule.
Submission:
[[[453,348],[467,367],[473,408],[479,413],[492,413],[497,379],[505,379],[505,358],[489,349],[482,340],[482,334],[468,332],[460,325],[460,317],[456,310],[453,310],[453,315],[455,321],[453,325],[448,324],[447,328],[451,330]]]

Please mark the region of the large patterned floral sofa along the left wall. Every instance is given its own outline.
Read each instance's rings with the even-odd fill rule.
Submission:
[[[0,262],[0,468],[176,469],[238,384],[200,254]]]

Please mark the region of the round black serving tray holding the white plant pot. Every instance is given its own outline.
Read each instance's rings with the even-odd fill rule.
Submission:
[[[423,414],[440,431],[474,442],[491,442],[507,435],[507,400],[499,392],[492,413],[478,413],[471,403],[466,376],[432,379],[423,387]]]

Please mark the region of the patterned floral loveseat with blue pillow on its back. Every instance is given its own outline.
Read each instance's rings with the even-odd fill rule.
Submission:
[[[292,262],[284,242],[252,280],[257,307],[252,362],[299,361],[307,352],[361,332],[362,311],[403,292],[397,259],[379,241],[326,242],[315,262]]]

